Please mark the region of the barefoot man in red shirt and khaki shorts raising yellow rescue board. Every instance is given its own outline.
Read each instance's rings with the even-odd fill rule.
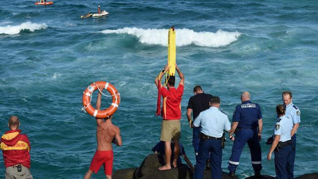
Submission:
[[[160,73],[157,78],[155,79],[155,84],[158,88],[158,95],[159,95],[159,107],[160,107],[160,96],[163,97],[163,104],[161,108],[161,117],[163,118],[162,124],[161,124],[161,136],[160,140],[164,141],[164,151],[165,151],[165,159],[166,163],[164,166],[159,167],[159,170],[170,170],[171,164],[171,140],[173,141],[175,148],[174,148],[174,158],[172,165],[173,167],[177,167],[177,160],[180,153],[180,145],[179,145],[179,139],[181,136],[181,125],[180,125],[180,119],[181,119],[181,99],[183,94],[183,84],[184,84],[184,76],[183,73],[180,71],[179,67],[177,67],[177,64],[175,64],[176,70],[180,77],[179,87],[175,88],[175,76],[169,76],[168,79],[166,79],[166,87],[165,89],[163,86],[161,86],[161,78],[163,74],[169,70],[168,65],[164,67],[162,70],[162,73]],[[168,80],[168,81],[167,81]],[[159,115],[159,112],[157,112],[157,115]]]

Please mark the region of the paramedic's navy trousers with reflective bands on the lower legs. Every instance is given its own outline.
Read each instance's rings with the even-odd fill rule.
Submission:
[[[253,128],[236,130],[235,140],[232,147],[232,155],[229,158],[227,167],[230,172],[234,171],[238,166],[240,156],[246,143],[248,143],[250,148],[250,156],[254,172],[260,172],[262,170],[262,153],[258,139],[258,131],[257,128]]]

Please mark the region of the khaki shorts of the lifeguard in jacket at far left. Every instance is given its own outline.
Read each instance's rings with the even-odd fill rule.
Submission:
[[[5,168],[5,179],[33,179],[31,172],[28,168],[21,165],[21,172],[18,172],[17,167],[7,167]]]

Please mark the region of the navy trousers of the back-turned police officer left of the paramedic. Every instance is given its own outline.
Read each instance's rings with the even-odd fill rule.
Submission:
[[[210,156],[209,156],[210,153]],[[199,154],[193,179],[203,179],[206,159],[210,157],[211,179],[222,179],[221,140],[207,139],[199,142]]]

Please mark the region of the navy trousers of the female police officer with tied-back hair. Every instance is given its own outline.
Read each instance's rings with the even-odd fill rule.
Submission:
[[[287,170],[288,161],[292,158],[292,145],[287,145],[279,149],[275,154],[276,179],[289,179],[290,171]]]

